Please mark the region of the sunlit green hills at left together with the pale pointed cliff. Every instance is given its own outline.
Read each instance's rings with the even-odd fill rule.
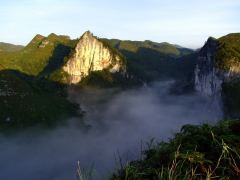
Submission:
[[[111,74],[126,73],[124,56],[89,31],[80,39],[50,34],[36,35],[23,49],[2,52],[1,65],[39,78],[49,78],[65,84],[91,81],[104,70],[103,76],[113,79]],[[91,73],[96,72],[96,73]],[[91,75],[91,78],[86,77]],[[97,77],[95,77],[97,78]]]

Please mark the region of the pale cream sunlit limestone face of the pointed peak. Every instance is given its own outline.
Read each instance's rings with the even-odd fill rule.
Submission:
[[[76,84],[90,72],[104,69],[111,73],[125,73],[126,66],[120,54],[87,31],[77,43],[75,53],[63,67],[69,75],[68,82]]]

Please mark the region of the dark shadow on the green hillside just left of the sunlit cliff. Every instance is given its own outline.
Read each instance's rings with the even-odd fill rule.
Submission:
[[[64,58],[71,52],[71,48],[63,44],[58,44],[53,52],[53,55],[48,61],[47,66],[39,73],[38,77],[48,77],[49,74],[64,64]]]

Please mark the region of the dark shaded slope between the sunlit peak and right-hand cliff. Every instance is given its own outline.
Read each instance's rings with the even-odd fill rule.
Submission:
[[[120,51],[127,59],[128,72],[134,77],[145,82],[175,79],[173,89],[178,89],[177,93],[193,91],[197,53],[175,58],[149,48],[139,48],[136,53]]]

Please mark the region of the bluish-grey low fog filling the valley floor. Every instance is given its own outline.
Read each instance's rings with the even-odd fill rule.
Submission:
[[[221,118],[216,101],[197,94],[173,95],[172,82],[118,91],[88,89],[70,91],[70,99],[86,110],[83,118],[55,129],[29,129],[0,136],[0,179],[76,179],[76,165],[95,169],[107,177],[123,160],[139,157],[151,138],[167,140],[184,124],[214,122]]]

